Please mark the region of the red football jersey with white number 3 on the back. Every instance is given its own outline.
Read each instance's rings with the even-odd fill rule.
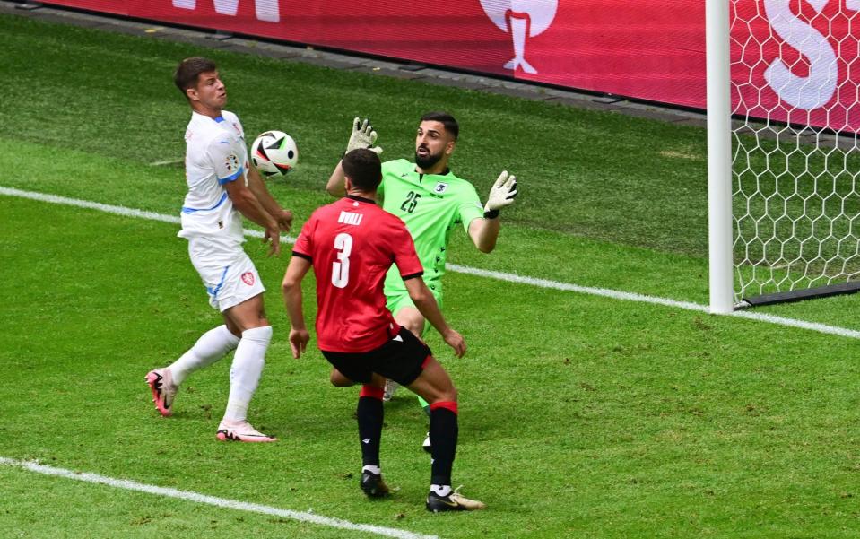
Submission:
[[[317,345],[326,352],[369,352],[400,326],[386,309],[386,273],[424,273],[409,230],[372,200],[347,196],[314,212],[292,250],[317,275]]]

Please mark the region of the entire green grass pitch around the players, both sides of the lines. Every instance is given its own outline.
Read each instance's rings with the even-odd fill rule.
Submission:
[[[484,195],[509,168],[523,191],[497,251],[457,233],[451,262],[707,300],[701,130],[12,16],[0,33],[4,187],[178,213],[181,168],[152,163],[183,152],[172,67],[205,54],[248,134],[296,137],[300,168],[270,187],[297,225],[330,200],[352,117],[374,118],[385,157],[408,157],[417,117],[444,108],[463,125],[457,172]],[[188,379],[173,418],[143,384],[218,324],[177,227],[8,196],[0,214],[0,456],[451,538],[860,531],[854,340],[448,274],[447,316],[470,351],[430,345],[461,395],[454,481],[491,509],[432,516],[426,420],[404,394],[387,405],[382,452],[399,490],[361,495],[356,391],[328,386],[318,352],[291,359],[285,256],[248,242],[275,332],[252,414],[281,441],[221,444],[229,360]],[[857,328],[856,308],[769,312]],[[0,485],[11,537],[360,535],[8,466]]]

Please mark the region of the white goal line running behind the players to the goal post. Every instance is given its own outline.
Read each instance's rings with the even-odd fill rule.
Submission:
[[[22,191],[20,189],[14,189],[11,187],[0,187],[0,195],[8,195],[8,196],[19,196],[22,198],[30,198],[32,200],[39,200],[41,202],[49,202],[52,204],[65,204],[71,206],[77,206],[81,208],[89,208],[92,210],[99,210],[100,212],[107,213],[115,213],[117,215],[123,215],[126,217],[140,217],[142,219],[152,219],[155,221],[162,222],[179,222],[179,218],[173,215],[164,215],[162,213],[153,213],[153,212],[144,212],[143,210],[136,210],[134,208],[126,208],[124,206],[114,206],[109,204],[100,204],[97,202],[90,202],[87,200],[79,200],[76,198],[66,198],[65,196],[56,196],[56,195],[45,195],[44,193],[35,193],[32,191]],[[245,234],[247,236],[253,236],[255,238],[262,238],[263,232],[260,230],[245,230]],[[294,243],[295,239],[289,236],[285,236],[282,238],[286,243]],[[520,283],[520,284],[528,284],[530,286],[537,286],[540,288],[549,288],[553,290],[560,291],[573,291],[582,294],[588,294],[592,296],[601,296],[604,298],[611,298],[612,300],[625,300],[625,301],[637,301],[639,303],[650,303],[653,305],[663,305],[664,307],[672,307],[675,309],[685,309],[685,310],[693,310],[701,313],[708,314],[710,311],[707,305],[702,305],[700,303],[692,303],[691,301],[679,301],[679,300],[670,300],[668,298],[660,298],[658,296],[647,296],[645,294],[638,294],[636,292],[625,292],[625,291],[616,291],[608,288],[595,288],[591,286],[580,286],[578,284],[572,283],[560,283],[558,281],[550,281],[548,279],[537,279],[534,277],[526,277],[517,274],[508,274],[503,272],[495,272],[491,270],[483,270],[479,268],[469,267],[467,265],[456,265],[456,264],[448,264],[447,269],[452,272],[456,272],[459,274],[470,274],[477,275],[479,277],[485,277],[488,279],[495,279],[498,281],[505,281],[507,283]],[[728,315],[724,315],[727,317],[739,317],[739,318],[747,318],[750,320],[758,320],[760,322],[768,322],[769,324],[777,324],[779,326],[789,326],[789,327],[798,327],[802,329],[808,329],[810,331],[816,331],[823,334],[828,335],[839,335],[842,337],[848,337],[851,339],[860,339],[860,331],[856,331],[854,329],[848,329],[847,327],[839,327],[839,326],[828,326],[826,324],[819,324],[817,322],[807,322],[806,320],[797,320],[795,318],[786,318],[786,317],[777,317],[774,315],[767,315],[763,313],[755,313],[745,310],[738,310],[734,313],[730,313]]]

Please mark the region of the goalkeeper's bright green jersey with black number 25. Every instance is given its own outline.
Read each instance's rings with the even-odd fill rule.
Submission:
[[[406,223],[424,267],[424,281],[440,293],[451,232],[460,224],[468,233],[472,220],[483,217],[473,185],[450,170],[447,174],[419,174],[415,163],[398,159],[382,163],[378,193],[384,196],[383,209]],[[386,296],[405,290],[403,278],[392,266],[386,276]]]

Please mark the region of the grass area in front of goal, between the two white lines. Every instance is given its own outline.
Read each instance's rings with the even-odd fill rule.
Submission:
[[[291,360],[277,294],[266,302],[278,336],[253,406],[281,441],[219,444],[227,362],[195,373],[169,420],[142,381],[217,324],[175,225],[2,204],[0,243],[17,284],[0,345],[4,456],[446,539],[754,537],[762,526],[769,536],[856,536],[858,341],[834,346],[828,335],[522,285],[499,293],[498,283],[451,274],[447,314],[470,350],[456,360],[436,335],[430,345],[461,396],[455,481],[490,510],[434,517],[421,506],[426,418],[414,400],[398,395],[386,408],[384,468],[401,490],[369,503],[355,476],[357,391],[329,387],[316,349]],[[264,282],[277,283],[285,261],[255,244]],[[64,491],[81,505],[96,489]],[[14,492],[13,511],[48,516],[66,505],[50,487],[50,496],[20,483]],[[169,505],[151,498],[149,507]],[[117,533],[89,536],[156,536],[157,524],[129,520],[195,513],[169,535],[226,537],[206,533],[208,511],[126,510],[111,520]],[[0,526],[17,520],[0,512]],[[265,521],[258,535],[299,536],[283,526]]]

